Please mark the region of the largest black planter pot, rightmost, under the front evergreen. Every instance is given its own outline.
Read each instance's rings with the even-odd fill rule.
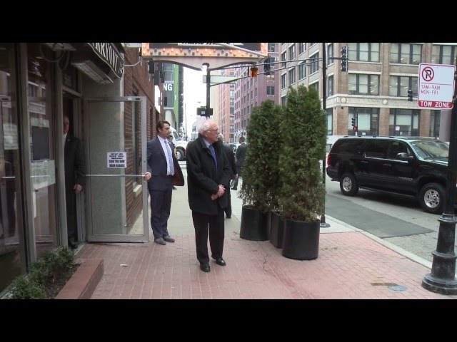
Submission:
[[[283,257],[296,260],[316,259],[319,252],[321,222],[284,220]]]

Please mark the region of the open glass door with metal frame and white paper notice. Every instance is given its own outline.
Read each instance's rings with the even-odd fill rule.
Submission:
[[[146,98],[84,100],[89,242],[149,242]]]

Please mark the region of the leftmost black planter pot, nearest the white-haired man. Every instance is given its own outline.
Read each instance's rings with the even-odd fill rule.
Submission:
[[[241,239],[252,241],[268,240],[268,213],[262,213],[255,207],[245,205],[241,208]]]

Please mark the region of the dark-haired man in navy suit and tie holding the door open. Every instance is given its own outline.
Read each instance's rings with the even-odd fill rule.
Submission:
[[[174,242],[167,229],[171,208],[173,185],[184,185],[184,177],[171,150],[167,137],[170,123],[159,120],[156,124],[157,136],[148,141],[148,171],[144,179],[148,181],[151,196],[151,229],[156,244]],[[174,179],[178,179],[174,182]]]

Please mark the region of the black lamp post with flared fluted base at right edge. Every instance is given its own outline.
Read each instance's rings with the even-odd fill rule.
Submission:
[[[456,65],[457,66],[457,65]],[[454,73],[454,83],[456,74]],[[420,91],[420,90],[419,90]],[[456,259],[454,244],[456,241],[456,223],[454,198],[457,183],[457,94],[454,89],[451,114],[451,138],[449,139],[448,175],[444,212],[438,219],[438,241],[433,251],[431,273],[422,280],[422,287],[438,294],[457,294]]]

